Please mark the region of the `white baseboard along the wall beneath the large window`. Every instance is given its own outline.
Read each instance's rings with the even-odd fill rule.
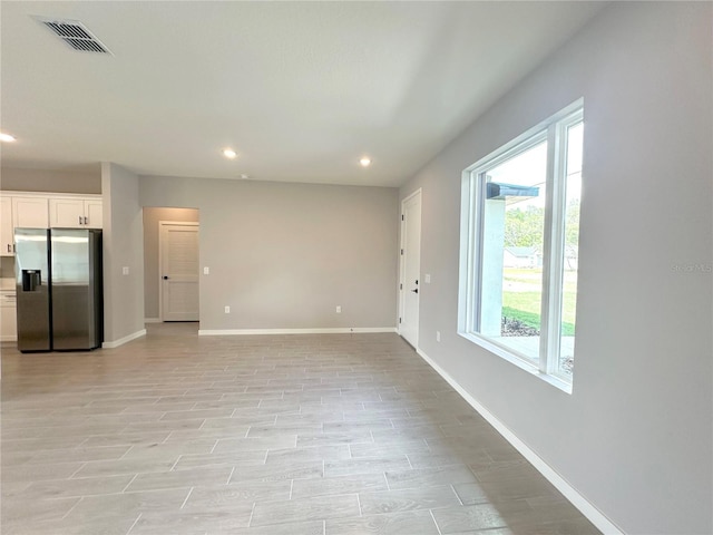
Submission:
[[[607,535],[623,535],[624,532],[619,529],[612,521],[609,521],[597,507],[585,498],[579,492],[574,488],[569,483],[561,477],[551,466],[538,456],[533,449],[529,448],[522,440],[520,440],[505,424],[486,409],[476,398],[468,393],[446,370],[438,366],[420,349],[416,350],[421,358],[433,368],[439,376],[456,389],[456,391],[466,400],[470,406],[476,409],[480,416],[482,416],[488,424],[490,424],[502,437],[517,449],[522,457],[525,457],[545,478],[551,483],[557,490],[559,490],[572,504],[579,509],[579,512],[586,516],[592,524],[594,524],[602,533]]]

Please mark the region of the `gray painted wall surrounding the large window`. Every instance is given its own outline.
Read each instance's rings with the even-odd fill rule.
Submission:
[[[712,8],[607,8],[400,192],[423,191],[420,349],[626,533],[713,532]],[[582,96],[569,396],[456,333],[460,179]]]

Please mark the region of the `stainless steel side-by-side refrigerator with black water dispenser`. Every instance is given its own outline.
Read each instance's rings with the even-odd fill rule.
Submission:
[[[16,228],[18,349],[89,350],[104,341],[101,231]]]

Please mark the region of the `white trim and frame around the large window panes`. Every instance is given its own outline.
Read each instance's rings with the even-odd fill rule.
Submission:
[[[518,368],[526,370],[546,382],[572,393],[572,378],[558,373],[558,347],[561,320],[563,255],[553,251],[564,251],[564,214],[566,205],[565,177],[566,150],[557,150],[563,145],[567,128],[584,118],[584,99],[578,99],[537,126],[517,136],[511,142],[480,158],[462,172],[461,178],[461,233],[460,233],[460,281],[458,298],[458,333],[479,347],[501,357]],[[476,332],[480,313],[480,257],[482,256],[482,214],[486,171],[506,162],[543,140],[547,140],[547,175],[545,187],[545,235],[543,243],[543,304],[540,325],[539,361],[505,347],[491,338]],[[557,206],[557,210],[553,210]],[[553,216],[557,221],[551,221]],[[555,290],[553,290],[555,289]],[[553,301],[556,298],[557,301]]]

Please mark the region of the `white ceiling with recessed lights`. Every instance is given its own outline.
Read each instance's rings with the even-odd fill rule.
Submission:
[[[603,6],[3,0],[2,166],[398,186]]]

